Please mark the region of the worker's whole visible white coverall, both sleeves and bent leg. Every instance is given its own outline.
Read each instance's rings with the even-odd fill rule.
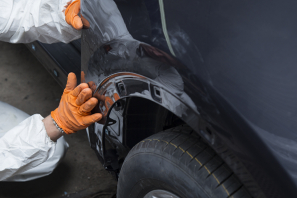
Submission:
[[[0,0],[0,41],[38,40],[50,44],[80,38],[81,31],[65,22],[67,2],[69,0]],[[0,181],[27,181],[50,174],[68,144],[63,138],[57,143],[49,139],[41,115],[26,118],[28,115],[13,108],[0,102]],[[14,120],[8,119],[9,116]],[[6,132],[4,124],[15,127]],[[56,150],[58,147],[61,149]]]

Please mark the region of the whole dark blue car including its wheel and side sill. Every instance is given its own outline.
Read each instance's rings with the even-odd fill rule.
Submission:
[[[62,87],[96,84],[87,131],[117,198],[296,198],[296,10],[83,0],[81,40],[27,46]]]

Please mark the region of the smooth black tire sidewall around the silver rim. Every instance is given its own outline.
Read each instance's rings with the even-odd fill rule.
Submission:
[[[143,198],[152,190],[166,190],[180,198],[209,198],[180,165],[147,148],[126,158],[117,197]]]

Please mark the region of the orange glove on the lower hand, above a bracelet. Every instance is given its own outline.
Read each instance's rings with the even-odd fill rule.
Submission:
[[[100,113],[91,115],[97,103],[98,99],[92,97],[88,84],[82,83],[76,87],[76,76],[69,73],[59,107],[51,111],[50,115],[66,134],[75,133],[102,118]]]

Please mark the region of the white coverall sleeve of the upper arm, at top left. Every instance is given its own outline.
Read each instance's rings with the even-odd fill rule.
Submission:
[[[0,0],[0,41],[69,43],[81,37],[65,21],[71,0]]]

